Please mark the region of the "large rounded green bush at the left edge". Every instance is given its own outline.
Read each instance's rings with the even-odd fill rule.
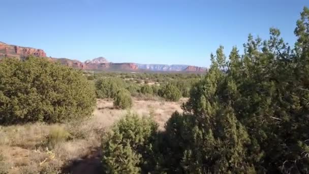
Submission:
[[[95,90],[82,72],[44,58],[0,63],[0,124],[65,122],[89,116]]]

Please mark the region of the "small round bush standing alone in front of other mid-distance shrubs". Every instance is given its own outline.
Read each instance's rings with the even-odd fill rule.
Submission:
[[[114,96],[114,106],[122,109],[132,107],[131,94],[128,90],[120,89]]]

